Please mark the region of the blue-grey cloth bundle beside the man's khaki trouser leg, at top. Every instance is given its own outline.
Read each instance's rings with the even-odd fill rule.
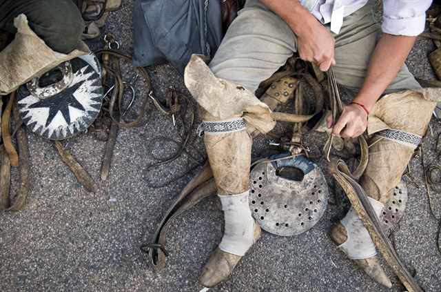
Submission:
[[[133,21],[133,66],[170,61],[181,75],[192,54],[213,57],[223,37],[218,0],[136,0]]]

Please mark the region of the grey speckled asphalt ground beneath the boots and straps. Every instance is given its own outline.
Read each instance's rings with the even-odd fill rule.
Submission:
[[[132,3],[113,12],[104,31],[112,32],[121,49],[132,52]],[[380,13],[379,6],[376,7]],[[100,48],[100,42],[91,43]],[[416,77],[435,79],[427,59],[431,41],[419,41],[407,65]],[[169,86],[188,97],[183,80],[167,65],[147,68],[156,97],[163,99]],[[138,84],[138,88],[139,88]],[[142,93],[142,88],[139,88]],[[145,97],[145,93],[142,93]],[[88,193],[61,159],[54,146],[29,135],[32,187],[25,207],[19,213],[0,213],[0,290],[1,291],[199,291],[198,275],[222,236],[223,213],[216,198],[209,197],[181,215],[169,232],[170,257],[165,269],[155,271],[139,246],[152,240],[161,217],[174,197],[194,173],[163,188],[151,184],[170,179],[193,164],[181,157],[172,164],[150,169],[151,153],[166,155],[176,149],[170,142],[154,140],[167,136],[176,139],[170,118],[158,111],[150,123],[120,130],[110,177],[101,182],[99,171],[105,144],[81,135],[69,139],[68,148],[99,184]],[[187,115],[187,118],[189,115]],[[278,126],[278,129],[287,125]],[[434,158],[435,137],[441,131],[431,121],[432,133],[424,138],[424,166]],[[311,153],[319,155],[326,137],[307,136]],[[200,139],[194,143],[203,150]],[[310,143],[311,144],[311,143]],[[256,139],[255,156],[268,153],[263,137]],[[332,181],[324,161],[317,160]],[[398,254],[409,269],[415,269],[422,288],[441,291],[441,257],[436,246],[438,224],[429,213],[429,202],[422,180],[420,155],[411,160],[413,182],[409,188],[407,211],[399,228],[394,228]],[[17,173],[14,173],[17,177]],[[439,193],[433,192],[433,208],[441,215]],[[340,192],[332,196],[322,220],[314,228],[294,237],[279,237],[264,232],[232,275],[212,291],[387,291],[360,272],[356,264],[336,249],[329,239],[331,227],[348,208]],[[391,269],[383,262],[393,288],[403,291]]]

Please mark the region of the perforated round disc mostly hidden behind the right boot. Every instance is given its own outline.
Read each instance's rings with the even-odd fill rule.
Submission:
[[[384,205],[382,213],[380,214],[380,221],[384,230],[391,228],[394,224],[400,221],[404,215],[407,203],[407,186],[401,180],[395,188],[389,202]]]

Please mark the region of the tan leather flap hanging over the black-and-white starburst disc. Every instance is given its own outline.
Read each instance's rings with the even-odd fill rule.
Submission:
[[[11,93],[63,61],[86,54],[81,50],[73,50],[69,55],[54,52],[30,29],[25,14],[14,19],[14,26],[14,40],[0,52],[0,95]]]

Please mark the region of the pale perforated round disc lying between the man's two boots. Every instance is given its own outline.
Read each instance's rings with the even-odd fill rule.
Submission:
[[[329,191],[319,168],[301,182],[276,175],[271,163],[254,166],[250,175],[249,207],[260,227],[269,233],[298,235],[325,213]]]

